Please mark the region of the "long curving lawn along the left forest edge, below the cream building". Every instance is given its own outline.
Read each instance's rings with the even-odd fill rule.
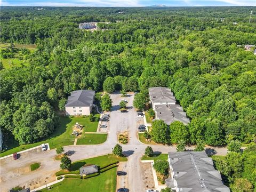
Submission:
[[[93,129],[95,129],[95,124],[98,125],[98,122],[90,122],[89,117],[60,117],[59,126],[55,129],[55,132],[50,135],[50,137],[40,142],[22,146],[19,146],[19,143],[17,141],[10,140],[10,142],[8,143],[8,149],[5,151],[1,151],[0,157],[17,153],[21,150],[36,147],[41,145],[42,143],[49,143],[51,149],[67,145],[73,145],[75,136],[70,134],[73,132],[71,128],[76,124],[76,122],[82,125],[86,124],[87,128],[85,127],[85,129],[92,129],[91,127],[94,127]],[[102,141],[102,138],[100,141]]]

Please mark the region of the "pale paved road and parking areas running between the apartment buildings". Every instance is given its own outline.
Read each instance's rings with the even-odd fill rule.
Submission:
[[[137,139],[137,113],[132,107],[132,100],[134,94],[130,94],[130,97],[126,97],[128,103],[127,113],[120,113],[119,102],[121,101],[121,94],[111,94],[113,100],[113,108],[110,112],[110,127],[108,133],[108,139],[101,145],[77,145],[77,146],[66,146],[65,151],[74,151],[74,154],[70,156],[71,160],[78,161],[80,159],[110,154],[112,148],[118,142],[117,135],[120,132],[129,132],[129,143],[122,145],[124,154],[128,157],[127,162],[127,177],[129,189],[131,192],[140,192],[142,190],[142,173],[140,167],[140,158],[143,155],[146,145],[143,145]],[[151,145],[154,151],[159,153],[168,153],[169,151],[176,151],[173,146],[158,146]],[[193,147],[187,148],[193,149]],[[215,148],[219,155],[227,154],[226,148]],[[13,160],[12,157],[1,159],[1,191],[8,191],[10,188],[15,186],[25,186],[34,189],[42,186],[47,182],[54,180],[54,173],[59,168],[59,161],[55,161],[56,156],[55,149],[48,151],[31,151],[26,155],[21,155],[17,160]],[[27,171],[27,167],[31,163],[40,162],[41,167],[39,170],[30,172]],[[31,185],[32,184],[32,185]],[[31,186],[30,186],[31,185]]]

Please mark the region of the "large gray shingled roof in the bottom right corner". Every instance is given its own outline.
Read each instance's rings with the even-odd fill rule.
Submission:
[[[230,192],[223,185],[220,172],[214,169],[212,158],[204,151],[170,152],[169,162],[177,185],[184,192]],[[174,187],[172,178],[166,179],[166,185]]]

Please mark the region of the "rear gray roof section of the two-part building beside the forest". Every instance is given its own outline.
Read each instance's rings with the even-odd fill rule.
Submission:
[[[176,102],[172,91],[167,87],[150,87],[148,89],[150,99],[155,102]]]

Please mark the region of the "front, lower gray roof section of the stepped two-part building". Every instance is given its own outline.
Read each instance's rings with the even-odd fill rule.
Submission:
[[[163,119],[167,125],[174,121],[180,121],[186,125],[190,122],[180,105],[156,105],[155,109],[157,117]]]

